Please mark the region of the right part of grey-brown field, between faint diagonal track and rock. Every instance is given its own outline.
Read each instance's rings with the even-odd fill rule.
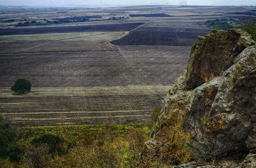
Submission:
[[[144,79],[145,85],[158,85],[165,83],[166,79],[175,81],[176,75],[185,68],[190,49],[181,46],[119,46],[119,53],[133,66],[136,74]],[[173,83],[165,83],[170,84]]]

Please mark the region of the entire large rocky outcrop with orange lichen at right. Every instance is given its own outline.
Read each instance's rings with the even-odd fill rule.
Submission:
[[[255,153],[255,104],[255,42],[238,29],[212,30],[193,45],[186,69],[164,99],[151,141],[175,143],[173,116],[179,115],[183,135],[206,140],[218,157]]]

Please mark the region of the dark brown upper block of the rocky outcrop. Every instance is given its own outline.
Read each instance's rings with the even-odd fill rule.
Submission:
[[[211,30],[198,37],[193,45],[187,64],[186,88],[194,88],[205,82],[205,75],[220,75],[234,63],[235,57],[254,42],[248,33],[237,29]]]

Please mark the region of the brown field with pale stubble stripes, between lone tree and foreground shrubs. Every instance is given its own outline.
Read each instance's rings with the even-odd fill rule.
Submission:
[[[58,125],[60,113],[68,125],[101,124],[108,115],[114,123],[145,123],[171,87],[32,87],[28,95],[0,87],[0,110],[19,126]]]

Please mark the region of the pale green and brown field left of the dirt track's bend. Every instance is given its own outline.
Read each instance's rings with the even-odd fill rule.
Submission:
[[[47,33],[1,36],[0,53],[46,51],[114,51],[107,43],[125,32]]]

